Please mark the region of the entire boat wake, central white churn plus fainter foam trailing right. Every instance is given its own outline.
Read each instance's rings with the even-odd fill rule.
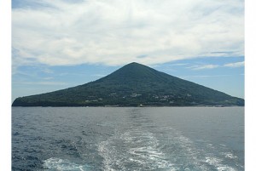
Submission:
[[[102,141],[98,145],[103,157],[102,170],[238,170],[224,162],[224,158],[237,158],[231,152],[219,157],[219,149],[214,145],[195,145],[173,128],[162,128],[160,133],[167,134],[133,128]]]

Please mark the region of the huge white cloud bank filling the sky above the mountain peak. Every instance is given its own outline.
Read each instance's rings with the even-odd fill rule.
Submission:
[[[12,10],[14,66],[160,64],[243,55],[241,0],[43,0]],[[42,5],[42,8],[38,8]],[[214,66],[213,66],[214,67]]]

